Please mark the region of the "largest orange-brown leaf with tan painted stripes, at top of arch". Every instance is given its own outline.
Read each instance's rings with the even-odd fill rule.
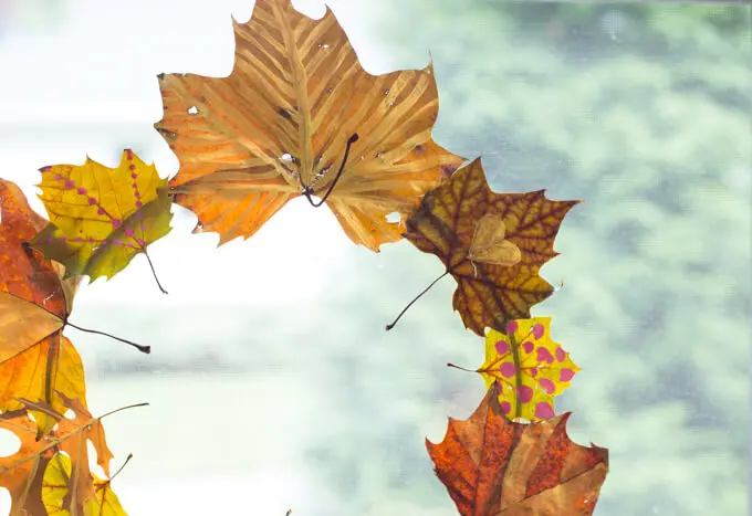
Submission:
[[[404,224],[387,215],[407,218],[463,161],[431,139],[431,66],[372,75],[331,11],[312,20],[290,0],[258,0],[234,35],[230,76],[159,76],[155,127],[180,161],[169,185],[197,230],[220,244],[248,238],[290,199],[315,194],[354,242],[378,251],[399,240]]]

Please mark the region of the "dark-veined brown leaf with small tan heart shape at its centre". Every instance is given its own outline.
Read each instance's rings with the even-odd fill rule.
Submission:
[[[478,158],[426,194],[405,238],[445,263],[458,283],[455,309],[482,337],[485,327],[503,333],[509,320],[530,318],[553,293],[539,271],[558,254],[554,239],[577,202],[544,190],[495,193]]]

